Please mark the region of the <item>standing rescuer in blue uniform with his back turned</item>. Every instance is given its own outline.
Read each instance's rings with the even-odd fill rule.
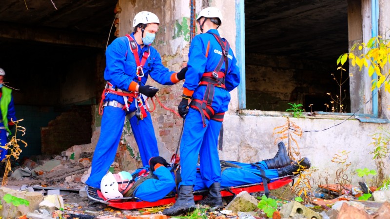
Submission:
[[[240,82],[233,50],[216,30],[222,23],[219,9],[205,8],[196,20],[197,29],[202,34],[191,42],[183,98],[178,106],[179,114],[185,117],[180,144],[182,171],[176,203],[163,212],[169,216],[195,209],[193,186],[198,155],[204,183],[210,190],[219,191],[221,167],[217,138],[224,113],[228,110],[229,92]],[[189,100],[192,101],[187,109]],[[213,206],[223,205],[220,194],[215,199],[218,200],[213,199]]]

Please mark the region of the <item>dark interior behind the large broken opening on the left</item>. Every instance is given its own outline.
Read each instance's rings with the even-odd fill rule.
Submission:
[[[117,0],[53,2],[0,5],[0,67],[28,143],[20,158],[90,143],[104,50],[115,39]]]

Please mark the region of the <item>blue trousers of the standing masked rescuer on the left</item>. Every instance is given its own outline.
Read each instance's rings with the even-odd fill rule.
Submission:
[[[100,181],[114,162],[117,148],[126,118],[125,110],[118,107],[104,107],[101,119],[101,131],[92,159],[91,175],[85,182],[89,186],[100,188]],[[136,139],[142,165],[148,165],[149,159],[158,156],[157,140],[149,112],[143,120],[130,119],[133,135]],[[138,124],[137,124],[138,122]]]

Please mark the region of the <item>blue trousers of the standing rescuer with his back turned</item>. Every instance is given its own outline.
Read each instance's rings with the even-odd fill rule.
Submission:
[[[217,151],[221,125],[221,122],[206,119],[204,128],[200,113],[193,108],[189,109],[180,143],[180,185],[195,185],[198,155],[201,179],[206,186],[221,182],[221,166]]]

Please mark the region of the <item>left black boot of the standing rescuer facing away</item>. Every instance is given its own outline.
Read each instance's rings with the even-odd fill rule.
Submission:
[[[180,186],[180,191],[178,193],[175,204],[164,209],[162,212],[164,215],[168,216],[177,216],[181,214],[188,214],[196,209],[194,201],[194,188],[192,185],[182,185]]]

